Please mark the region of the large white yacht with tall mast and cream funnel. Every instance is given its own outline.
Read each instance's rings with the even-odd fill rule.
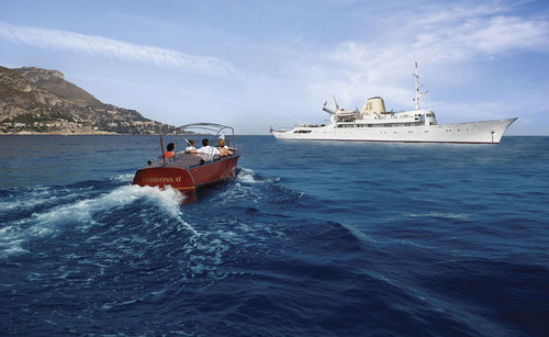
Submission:
[[[349,141],[349,142],[402,142],[402,143],[472,143],[498,144],[503,133],[516,117],[494,121],[438,124],[435,113],[419,109],[419,76],[415,65],[415,110],[388,112],[383,99],[368,99],[362,109],[339,109],[334,97],[335,109],[326,108],[329,124],[300,123],[292,130],[271,133],[279,139]]]

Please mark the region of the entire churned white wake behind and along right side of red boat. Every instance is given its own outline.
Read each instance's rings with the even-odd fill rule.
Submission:
[[[121,229],[125,226],[126,231],[130,227],[146,231],[158,226],[175,227],[188,232],[186,239],[199,243],[197,247],[210,246],[208,249],[211,250],[212,243],[223,246],[220,231],[224,226],[216,228],[216,238],[211,243],[200,246],[198,238],[202,231],[212,239],[215,231],[211,231],[210,224],[220,223],[219,217],[209,216],[213,204],[234,209],[245,201],[243,207],[250,209],[250,204],[281,202],[284,195],[291,200],[300,198],[300,194],[276,186],[278,178],[262,178],[247,168],[239,169],[236,179],[208,189],[198,203],[190,205],[183,205],[187,196],[175,189],[127,184],[131,180],[132,175],[125,173],[109,177],[108,181],[0,191],[2,200],[9,200],[0,202],[0,259],[40,252],[40,245],[45,240],[75,233],[85,236],[85,233],[113,226]],[[278,191],[278,195],[273,196],[272,191]],[[231,218],[227,224],[231,233],[225,238],[234,240],[235,220]]]

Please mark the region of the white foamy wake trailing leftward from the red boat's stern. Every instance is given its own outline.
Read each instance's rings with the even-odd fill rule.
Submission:
[[[182,220],[180,204],[184,196],[173,189],[121,186],[104,192],[94,187],[51,187],[11,193],[13,200],[0,206],[0,217],[5,218],[0,227],[0,258],[32,252],[24,248],[29,241],[61,235],[67,228],[90,231],[92,226],[109,226],[122,210],[142,210],[142,216],[146,210],[154,210],[158,217],[176,220],[198,235]]]

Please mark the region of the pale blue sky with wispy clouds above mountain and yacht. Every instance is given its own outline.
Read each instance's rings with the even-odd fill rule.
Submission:
[[[268,134],[323,101],[382,97],[439,124],[518,117],[549,135],[549,2],[0,0],[0,66],[56,69],[104,103]]]

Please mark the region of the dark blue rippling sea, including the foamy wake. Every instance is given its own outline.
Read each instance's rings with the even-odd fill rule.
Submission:
[[[549,334],[549,137],[237,145],[182,205],[156,137],[0,137],[0,335]]]

